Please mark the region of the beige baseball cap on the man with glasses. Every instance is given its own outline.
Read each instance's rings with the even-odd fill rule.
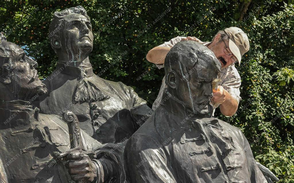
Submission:
[[[225,33],[229,36],[230,51],[237,57],[239,66],[241,57],[249,50],[249,40],[247,35],[238,27],[225,28]]]

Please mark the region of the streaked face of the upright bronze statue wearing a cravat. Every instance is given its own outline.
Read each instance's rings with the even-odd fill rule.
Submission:
[[[60,34],[63,58],[83,61],[93,48],[93,33],[90,21],[81,14],[70,14],[64,18]],[[65,49],[64,49],[65,48]]]

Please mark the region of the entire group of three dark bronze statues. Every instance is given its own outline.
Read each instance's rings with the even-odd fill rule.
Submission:
[[[212,116],[221,63],[210,49],[192,40],[170,49],[153,111],[131,87],[93,73],[91,29],[82,6],[54,13],[58,62],[43,82],[36,61],[1,33],[1,183],[278,180],[237,127]]]

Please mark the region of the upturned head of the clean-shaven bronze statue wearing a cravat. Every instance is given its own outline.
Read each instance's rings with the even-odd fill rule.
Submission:
[[[83,61],[93,48],[90,18],[82,6],[55,12],[49,29],[52,48],[62,61]]]

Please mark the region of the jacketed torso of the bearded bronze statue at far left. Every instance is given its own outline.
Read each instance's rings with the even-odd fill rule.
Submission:
[[[0,113],[5,120],[0,125],[0,158],[8,182],[60,183],[52,152],[70,149],[68,127],[61,117],[39,114],[38,108],[21,100],[6,102]],[[84,132],[82,137],[88,150],[101,145]]]

